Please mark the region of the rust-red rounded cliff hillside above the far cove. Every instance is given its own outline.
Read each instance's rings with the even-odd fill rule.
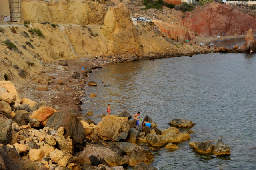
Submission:
[[[246,34],[250,28],[256,32],[256,18],[218,3],[208,3],[193,12],[186,12],[181,24],[199,36]]]

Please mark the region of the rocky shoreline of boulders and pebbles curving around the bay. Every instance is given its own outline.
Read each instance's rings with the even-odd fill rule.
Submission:
[[[79,109],[87,86],[88,73],[112,63],[190,56],[206,53],[238,53],[254,48],[250,30],[246,48],[198,49],[174,54],[152,54],[144,57],[100,56],[80,60],[60,60],[49,69],[32,77],[27,88],[19,90],[28,98],[21,98],[14,85],[0,82],[0,169],[156,169],[150,164],[154,155],[136,142],[147,142],[154,148],[178,149],[175,143],[190,140],[192,121],[176,119],[170,128],[159,130],[150,117],[143,120],[152,127],[136,126],[129,120],[129,113],[102,115],[95,123]],[[249,40],[252,45],[250,46]],[[248,43],[248,45],[247,45]],[[81,62],[82,61],[82,62]],[[85,67],[86,66],[86,67]],[[79,68],[79,69],[78,69]],[[58,74],[56,74],[58,73]],[[58,77],[57,77],[58,76]],[[62,77],[60,77],[62,76]],[[30,88],[30,92],[26,89]],[[37,89],[38,95],[31,92]],[[57,93],[54,93],[56,91]],[[40,98],[40,94],[44,97]],[[73,93],[73,94],[72,94]],[[70,94],[71,102],[66,102]],[[72,94],[72,95],[71,95]],[[36,97],[36,98],[35,98]],[[32,99],[32,100],[31,100]],[[36,102],[43,99],[50,102]],[[66,102],[66,103],[65,103]],[[178,128],[188,128],[180,133]],[[230,155],[230,147],[222,141],[215,145],[208,142],[190,142],[198,154]],[[10,162],[15,162],[10,164]]]

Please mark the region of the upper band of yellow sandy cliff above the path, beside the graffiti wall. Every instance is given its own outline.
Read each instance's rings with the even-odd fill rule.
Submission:
[[[92,1],[69,2],[23,2],[23,18],[31,22],[54,22],[62,24],[99,24],[106,15],[105,8]]]

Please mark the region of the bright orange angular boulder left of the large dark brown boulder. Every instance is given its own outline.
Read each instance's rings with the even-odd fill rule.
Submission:
[[[40,107],[38,110],[32,112],[30,119],[38,119],[41,126],[45,126],[47,119],[56,112],[52,107]]]

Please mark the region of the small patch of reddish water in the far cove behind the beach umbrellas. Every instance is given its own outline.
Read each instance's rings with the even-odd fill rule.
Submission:
[[[254,36],[254,38],[256,38],[256,36]],[[229,40],[219,40],[217,42],[212,42],[212,43],[215,44],[215,47],[226,47],[228,49],[231,49],[236,45],[239,45],[239,48],[240,48],[241,45],[245,43],[245,40],[244,40],[244,37],[241,37],[241,38],[233,38]]]

